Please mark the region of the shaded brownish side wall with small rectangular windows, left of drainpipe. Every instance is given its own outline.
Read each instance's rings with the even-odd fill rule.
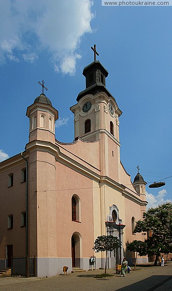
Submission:
[[[17,157],[18,160],[18,157]],[[19,164],[18,164],[19,163]],[[5,168],[6,165],[6,168]],[[21,158],[3,162],[0,170],[0,259],[5,259],[6,245],[13,244],[13,255],[23,256],[26,227],[21,226],[21,212],[26,210],[26,182],[21,183],[21,169],[26,166]],[[14,185],[8,187],[8,175],[14,173]],[[13,214],[13,229],[8,228],[8,215]]]

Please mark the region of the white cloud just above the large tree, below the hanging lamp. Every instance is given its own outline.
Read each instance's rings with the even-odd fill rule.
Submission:
[[[165,189],[158,192],[157,195],[153,195],[151,193],[146,192],[146,200],[148,202],[147,209],[166,203],[166,202],[172,202],[171,199],[164,199],[166,196],[167,191]]]

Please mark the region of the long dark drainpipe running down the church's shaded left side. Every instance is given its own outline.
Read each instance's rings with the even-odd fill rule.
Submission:
[[[21,157],[26,161],[26,276],[28,274],[28,160],[23,157],[23,152],[21,152]]]

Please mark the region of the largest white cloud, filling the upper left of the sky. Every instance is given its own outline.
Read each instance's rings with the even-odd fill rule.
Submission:
[[[0,62],[34,62],[47,50],[55,71],[74,74],[81,37],[92,32],[92,0],[0,0]]]

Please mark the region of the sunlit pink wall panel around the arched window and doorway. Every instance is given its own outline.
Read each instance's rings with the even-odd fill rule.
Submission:
[[[93,190],[92,180],[57,163],[57,256],[71,257],[71,237],[74,232],[82,237],[82,256],[93,253]],[[71,199],[77,194],[80,199],[80,222],[72,221]]]

